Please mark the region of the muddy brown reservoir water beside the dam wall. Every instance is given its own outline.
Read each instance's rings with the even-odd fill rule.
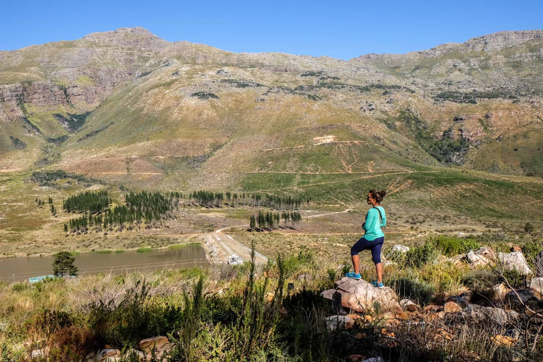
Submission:
[[[78,275],[126,274],[134,271],[207,268],[209,263],[201,246],[186,246],[183,249],[148,252],[111,252],[75,255],[74,265]],[[5,258],[0,259],[0,280],[23,280],[34,276],[53,274],[54,257]]]

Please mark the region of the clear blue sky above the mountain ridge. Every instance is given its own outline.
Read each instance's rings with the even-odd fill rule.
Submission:
[[[6,1],[0,50],[141,26],[232,52],[350,59],[406,53],[502,30],[543,29],[543,1]]]

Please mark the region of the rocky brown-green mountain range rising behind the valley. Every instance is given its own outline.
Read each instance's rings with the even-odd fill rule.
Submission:
[[[0,52],[0,172],[283,192],[442,167],[539,179],[542,106],[543,30],[345,61],[119,28]]]

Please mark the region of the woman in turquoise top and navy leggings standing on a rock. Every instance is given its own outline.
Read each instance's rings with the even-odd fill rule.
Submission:
[[[366,201],[372,207],[366,214],[366,221],[362,224],[365,233],[355,245],[351,247],[352,266],[354,271],[345,274],[351,279],[360,279],[359,256],[358,253],[362,250],[371,250],[371,257],[375,263],[377,271],[377,281],[371,282],[374,287],[383,288],[383,264],[381,263],[381,248],[383,247],[384,234],[381,227],[387,225],[387,216],[384,214],[384,208],[381,206],[386,191],[370,190]]]

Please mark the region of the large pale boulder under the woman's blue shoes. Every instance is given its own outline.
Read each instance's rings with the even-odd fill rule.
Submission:
[[[356,312],[373,310],[374,303],[380,303],[382,310],[397,306],[396,293],[389,287],[375,288],[364,280],[354,280],[347,277],[335,283],[337,291],[342,295],[342,305]],[[326,291],[325,291],[326,292]],[[324,297],[330,293],[321,293]]]

